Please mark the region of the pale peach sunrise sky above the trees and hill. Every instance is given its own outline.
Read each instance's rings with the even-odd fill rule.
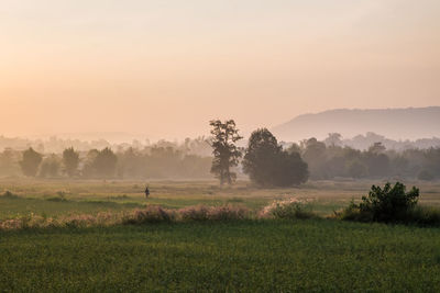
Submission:
[[[438,0],[1,0],[0,135],[440,105]]]

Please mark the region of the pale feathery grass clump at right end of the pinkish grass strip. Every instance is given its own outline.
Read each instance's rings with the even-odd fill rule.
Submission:
[[[310,200],[288,199],[284,201],[274,201],[265,206],[261,212],[261,217],[272,218],[314,218],[318,217],[314,211]]]

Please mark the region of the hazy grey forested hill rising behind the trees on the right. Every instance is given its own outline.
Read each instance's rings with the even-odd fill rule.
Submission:
[[[299,115],[273,127],[273,133],[285,142],[316,137],[323,139],[329,133],[353,137],[367,132],[393,139],[440,137],[440,106],[408,109],[349,110],[338,109],[317,114]]]

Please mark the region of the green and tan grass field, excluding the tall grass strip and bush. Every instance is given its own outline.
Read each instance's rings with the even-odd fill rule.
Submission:
[[[0,219],[97,214],[145,204],[178,209],[314,199],[324,216],[359,200],[373,182],[310,182],[254,189],[239,182],[1,180]],[[381,182],[375,182],[381,183]],[[440,206],[439,183],[420,203]],[[440,228],[334,219],[189,222],[0,230],[0,292],[72,291],[440,291]]]

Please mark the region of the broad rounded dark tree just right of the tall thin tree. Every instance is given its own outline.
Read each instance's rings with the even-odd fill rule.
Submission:
[[[243,170],[253,182],[263,187],[288,187],[308,179],[307,164],[300,155],[283,150],[276,137],[266,128],[252,133]]]

